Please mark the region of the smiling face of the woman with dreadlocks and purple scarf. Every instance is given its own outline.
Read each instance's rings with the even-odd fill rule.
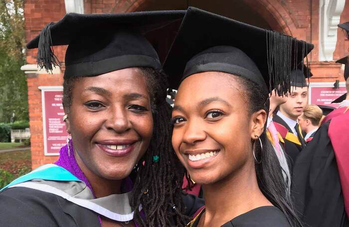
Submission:
[[[108,180],[129,176],[153,133],[145,76],[126,68],[74,83],[67,129],[80,168]]]

